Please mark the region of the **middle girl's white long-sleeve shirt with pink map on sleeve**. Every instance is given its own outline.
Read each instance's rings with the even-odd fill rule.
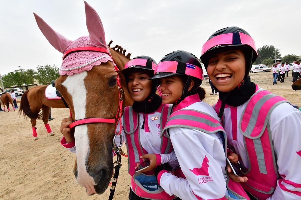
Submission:
[[[186,98],[183,101],[185,100]],[[202,111],[219,120],[213,108],[202,101],[182,109]],[[207,134],[194,129],[173,127],[169,129],[169,134],[186,179],[167,172],[162,175],[159,173],[160,186],[169,195],[176,195],[181,199],[219,199],[228,195],[226,157],[219,139],[222,133]],[[207,167],[208,171],[202,175],[192,172],[193,169],[200,167],[203,167],[204,171]]]

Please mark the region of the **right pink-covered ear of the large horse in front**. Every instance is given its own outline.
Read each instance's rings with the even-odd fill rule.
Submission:
[[[85,1],[84,1],[85,2]],[[97,12],[85,2],[86,24],[89,32],[89,40],[102,48],[108,48],[106,43],[106,36],[104,34],[104,27]]]

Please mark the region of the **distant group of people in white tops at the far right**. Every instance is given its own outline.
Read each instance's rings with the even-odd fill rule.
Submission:
[[[290,65],[288,64],[288,62],[284,64],[284,62],[280,63],[279,61],[277,61],[277,63],[275,63],[272,67],[273,78],[274,78],[273,85],[277,84],[277,78],[278,81],[281,80],[280,83],[283,83],[285,74],[286,77],[288,77],[289,71],[290,71]],[[295,82],[298,79],[298,76],[301,77],[300,72],[301,72],[300,61],[295,60],[293,62],[292,82]]]

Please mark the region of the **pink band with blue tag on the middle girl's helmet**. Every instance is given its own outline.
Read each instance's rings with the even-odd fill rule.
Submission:
[[[178,69],[178,64],[179,64],[179,62],[176,62],[176,61],[159,62],[157,65],[157,69],[155,70],[155,74],[156,74],[156,72],[178,73],[181,70],[181,69]],[[185,64],[185,74],[186,75],[193,76],[193,77],[203,80],[204,74],[203,74],[203,70],[200,67],[191,65],[189,63],[184,63],[184,64]]]

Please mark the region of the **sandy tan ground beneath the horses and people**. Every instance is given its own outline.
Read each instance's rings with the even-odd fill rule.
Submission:
[[[261,88],[301,105],[301,91],[291,88],[291,72],[284,83],[278,81],[277,85],[272,85],[271,72],[250,76]],[[204,80],[202,86],[207,92],[204,101],[212,105],[218,100],[218,95],[209,95],[208,80]],[[75,154],[60,144],[62,135],[59,127],[61,119],[69,115],[67,108],[51,109],[55,119],[49,124],[54,136],[48,135],[44,123],[38,120],[37,141],[33,140],[30,121],[19,118],[17,111],[18,108],[16,112],[0,112],[0,199],[108,199],[109,188],[102,195],[87,196],[85,188],[75,181],[72,172]],[[113,199],[128,199],[129,187],[130,175],[127,173],[127,160],[123,157]]]

